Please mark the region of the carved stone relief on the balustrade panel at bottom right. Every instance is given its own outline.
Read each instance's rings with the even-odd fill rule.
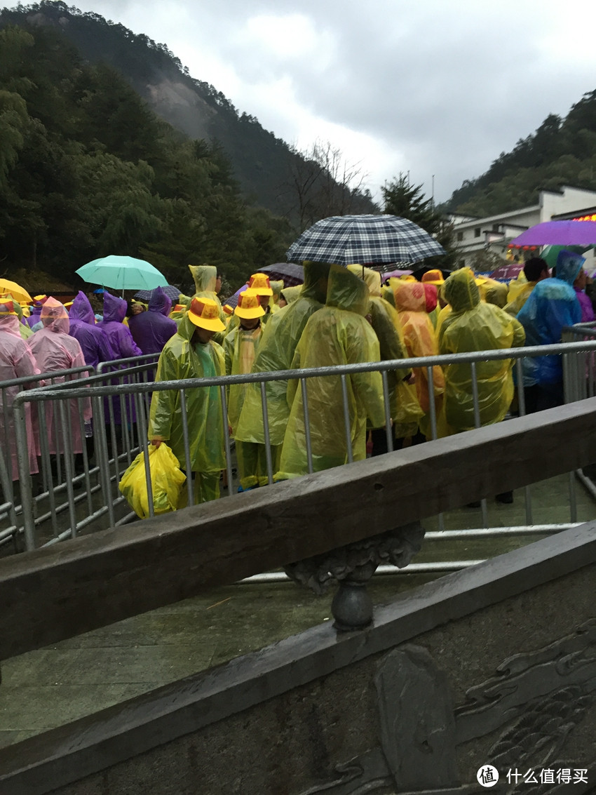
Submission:
[[[328,781],[301,795],[478,793],[476,781],[462,784],[457,746],[500,731],[478,764],[501,770],[493,792],[520,792],[502,778],[509,769],[569,768],[567,740],[596,703],[596,620],[543,649],[505,659],[489,680],[466,692],[453,708],[447,674],[427,650],[405,645],[381,658],[374,680],[380,718],[378,747],[335,766]],[[582,760],[592,775],[596,757]],[[573,793],[594,790],[577,782]],[[523,782],[528,795],[559,795],[564,783]]]

